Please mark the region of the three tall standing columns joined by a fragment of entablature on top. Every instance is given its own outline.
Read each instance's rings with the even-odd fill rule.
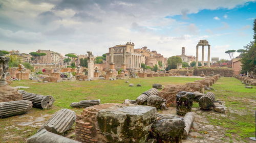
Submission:
[[[204,46],[208,46],[207,67],[210,67],[210,45],[207,40],[200,40],[197,44],[196,67],[198,67],[198,46],[202,46],[202,66],[204,66]]]

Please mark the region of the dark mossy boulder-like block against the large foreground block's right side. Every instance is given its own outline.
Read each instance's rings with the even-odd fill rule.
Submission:
[[[152,138],[158,142],[181,142],[185,122],[180,117],[164,118],[156,121],[152,126]]]

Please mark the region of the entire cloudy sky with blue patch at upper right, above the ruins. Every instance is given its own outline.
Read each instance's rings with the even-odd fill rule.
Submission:
[[[226,50],[252,41],[255,8],[246,0],[0,0],[0,50],[101,55],[131,40],[169,57],[183,46],[196,55],[207,39],[211,57],[229,59]]]

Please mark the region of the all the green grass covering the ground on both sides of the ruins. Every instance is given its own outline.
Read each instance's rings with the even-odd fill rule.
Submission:
[[[136,99],[141,93],[152,88],[153,83],[167,84],[184,84],[193,82],[199,78],[186,77],[154,77],[154,78],[137,78],[129,79],[130,83],[134,83],[135,87],[128,87],[129,83],[125,80],[94,80],[94,81],[65,81],[58,83],[42,83],[34,81],[13,81],[11,86],[22,85],[30,87],[24,89],[27,92],[52,95],[55,98],[54,107],[50,110],[41,110],[32,108],[25,116],[41,117],[43,115],[52,115],[61,108],[69,108],[78,114],[82,111],[80,108],[71,108],[71,102],[80,100],[100,99],[101,103],[122,103],[125,99]],[[136,87],[136,84],[142,87]],[[216,91],[216,99],[224,101],[228,107],[226,117],[218,116],[212,119],[207,116],[209,123],[212,125],[222,126],[226,129],[226,136],[230,140],[244,140],[255,133],[255,101],[256,88],[245,89],[244,84],[235,78],[222,77],[212,86]],[[199,107],[198,103],[194,107]],[[6,119],[0,119],[0,142],[6,142],[5,135],[14,135],[8,142],[26,142],[25,139],[36,133],[39,127],[23,127],[23,128],[6,128],[16,125],[20,121],[19,116]],[[47,119],[50,118],[47,117]],[[25,118],[24,118],[25,119]],[[5,130],[2,130],[4,129]],[[234,138],[232,135],[235,135]]]

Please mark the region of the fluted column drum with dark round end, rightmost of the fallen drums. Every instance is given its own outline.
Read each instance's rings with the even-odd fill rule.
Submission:
[[[215,94],[207,92],[204,96],[199,99],[199,106],[203,110],[209,110],[214,107]]]

